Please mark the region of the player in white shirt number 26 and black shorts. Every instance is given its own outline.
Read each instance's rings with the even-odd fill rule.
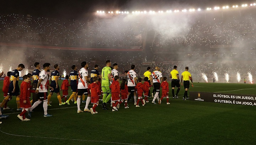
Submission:
[[[130,98],[132,98],[132,96],[133,96],[134,105],[136,105],[137,97],[136,97],[135,86],[138,82],[137,82],[137,74],[134,71],[134,69],[135,69],[135,65],[133,64],[133,65],[131,65],[131,70],[129,70],[127,73],[127,78],[128,78],[127,86],[128,86],[128,92],[129,92],[129,97],[128,97],[127,101],[129,101]]]

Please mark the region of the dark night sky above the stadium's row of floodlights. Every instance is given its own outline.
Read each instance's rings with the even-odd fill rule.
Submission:
[[[224,5],[250,5],[256,1],[241,0],[2,0],[0,13],[31,14],[32,16],[76,19],[97,10],[170,10]]]

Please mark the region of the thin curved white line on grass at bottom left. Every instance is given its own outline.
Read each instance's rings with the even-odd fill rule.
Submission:
[[[2,127],[2,126],[1,126],[1,127]],[[2,133],[8,134],[8,135],[14,135],[14,136],[18,136],[18,137],[65,139],[65,140],[77,140],[77,141],[100,142],[100,143],[111,143],[111,144],[141,145],[141,144],[128,144],[128,143],[115,143],[115,142],[110,142],[110,141],[82,140],[82,139],[66,139],[66,138],[53,138],[53,137],[33,137],[33,136],[26,136],[26,135],[17,135],[17,134],[10,134],[10,133],[3,132],[3,131],[1,130],[1,127],[0,127],[0,131],[1,131]]]

